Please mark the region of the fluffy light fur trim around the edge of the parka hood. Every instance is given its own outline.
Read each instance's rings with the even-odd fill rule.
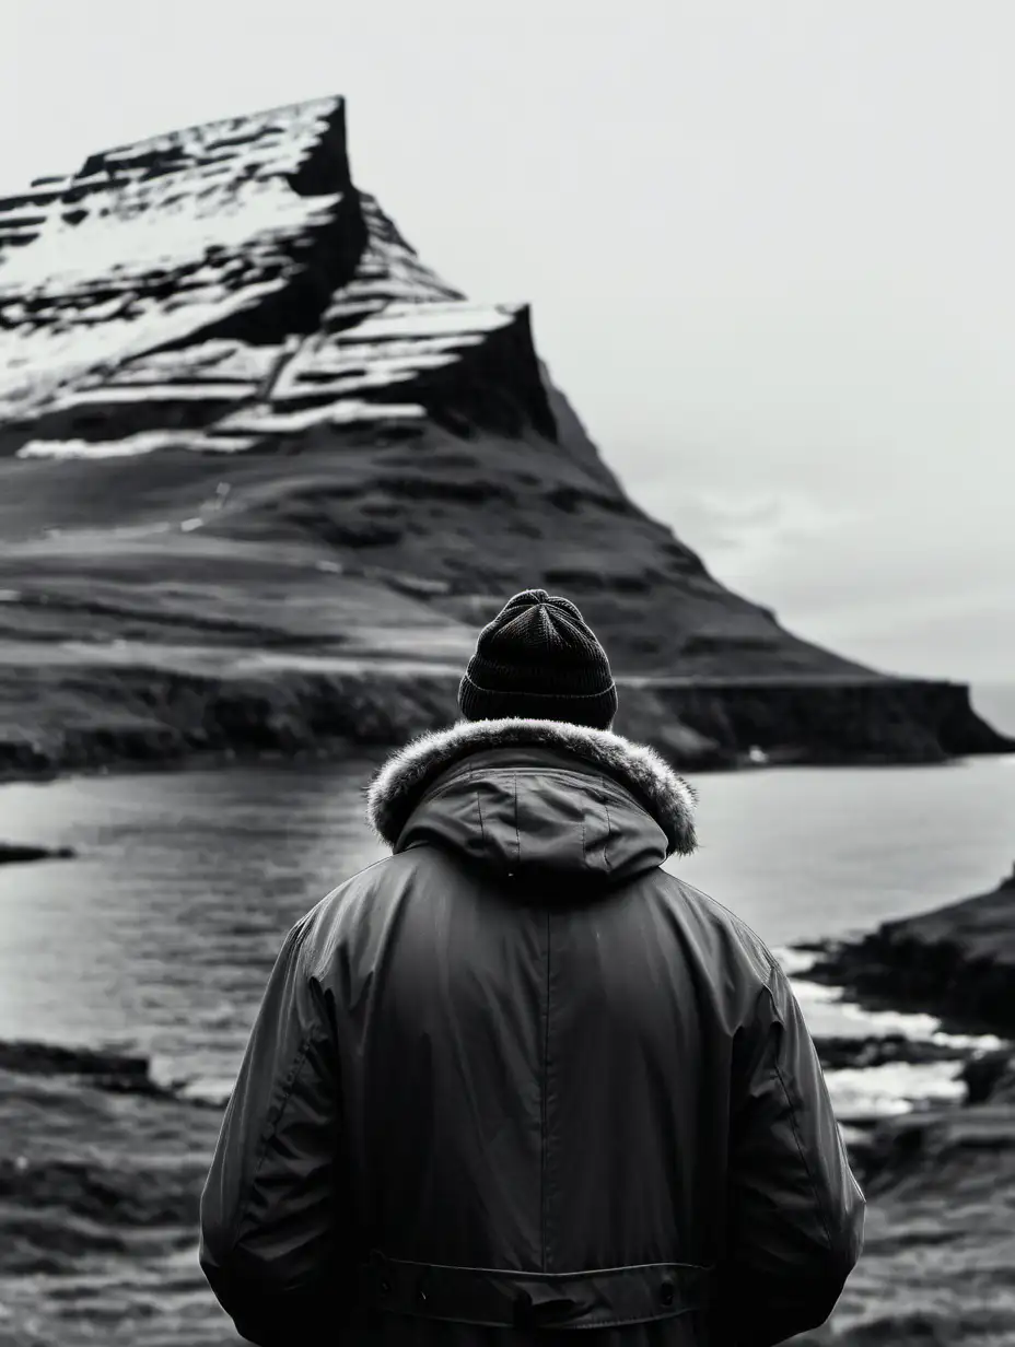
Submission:
[[[642,744],[609,730],[592,730],[563,721],[458,721],[448,730],[431,730],[394,753],[367,792],[367,822],[381,842],[394,846],[410,814],[430,783],[460,757],[480,749],[563,749],[605,768],[643,804],[666,834],[667,855],[690,855],[697,846],[694,806],[697,792]]]

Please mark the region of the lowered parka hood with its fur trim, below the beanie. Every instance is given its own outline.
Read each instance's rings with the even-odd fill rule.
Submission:
[[[508,878],[615,885],[690,855],[694,789],[654,750],[562,721],[461,721],[392,754],[367,818],[394,851],[435,843]]]

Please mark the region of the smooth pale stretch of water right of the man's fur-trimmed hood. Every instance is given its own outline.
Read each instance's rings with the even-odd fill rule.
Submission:
[[[673,869],[768,944],[865,931],[992,889],[1015,859],[1015,756],[701,777]]]

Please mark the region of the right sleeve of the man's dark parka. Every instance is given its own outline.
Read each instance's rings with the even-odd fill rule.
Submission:
[[[737,1039],[718,1340],[771,1347],[834,1309],[863,1249],[865,1203],[810,1033],[774,960]]]

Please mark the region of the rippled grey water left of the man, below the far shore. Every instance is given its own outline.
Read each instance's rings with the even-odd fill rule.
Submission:
[[[228,1090],[288,928],[381,849],[372,765],[15,784],[5,841],[74,861],[0,874],[0,1039],[132,1047]]]

